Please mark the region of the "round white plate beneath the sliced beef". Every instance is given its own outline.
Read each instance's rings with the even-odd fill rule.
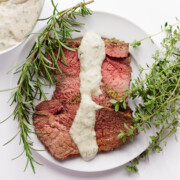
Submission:
[[[94,31],[99,33],[102,37],[115,37],[126,42],[132,42],[134,39],[139,40],[147,36],[143,30],[141,30],[132,22],[122,17],[108,13],[94,12],[92,16],[78,18],[78,20],[85,23],[86,25],[80,27],[81,33],[74,33],[73,38],[82,37],[83,34],[87,31]],[[33,35],[27,40],[27,43],[18,58],[20,61],[25,59],[30,47],[32,47],[35,37],[36,36]],[[138,64],[142,66],[145,66],[146,63],[151,64],[151,56],[155,49],[155,46],[152,45],[150,40],[143,42],[143,45],[136,51],[130,48],[130,53],[133,57],[131,63],[133,69],[132,79],[138,76]],[[12,81],[15,81],[14,76],[12,77]],[[49,98],[51,98],[52,91],[53,88],[51,89],[51,92],[49,89],[46,89],[46,92],[49,92]],[[133,102],[130,102],[129,105],[133,108]],[[61,166],[70,170],[82,172],[104,171],[121,166],[141,154],[149,144],[149,133],[140,133],[140,135],[135,138],[133,143],[127,143],[125,146],[111,152],[99,153],[95,159],[89,162],[83,161],[80,156],[69,158],[65,161],[58,161],[54,159],[48,152],[39,153],[57,166]],[[32,136],[32,138],[35,148],[44,148],[35,135]]]

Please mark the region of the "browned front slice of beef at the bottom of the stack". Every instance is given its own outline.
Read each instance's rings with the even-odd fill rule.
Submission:
[[[39,139],[57,159],[64,160],[79,154],[69,134],[78,107],[79,103],[62,103],[60,100],[44,101],[36,107],[38,115],[33,117],[35,131],[41,133],[38,134]],[[114,112],[113,109],[101,109],[96,112],[95,131],[99,152],[111,151],[123,145],[117,135],[120,129],[126,131],[124,123],[133,125],[129,108],[119,112]]]

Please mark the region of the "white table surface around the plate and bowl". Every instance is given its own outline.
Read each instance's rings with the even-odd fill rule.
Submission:
[[[54,0],[59,2],[61,9],[70,7],[76,4],[76,0]],[[105,11],[125,17],[138,26],[140,26],[148,34],[153,34],[160,31],[161,24],[168,21],[170,24],[175,22],[175,17],[180,18],[180,0],[95,0],[95,3],[89,6],[92,10]],[[45,0],[45,5],[41,17],[47,17],[52,12],[50,0]],[[44,22],[39,22],[36,29],[42,27]],[[156,43],[159,43],[161,36],[154,38]],[[22,45],[23,46],[23,45]],[[0,89],[5,89],[10,86],[8,81],[3,79],[8,75],[6,72],[13,66],[22,46],[8,54],[0,56]],[[8,63],[7,63],[8,61]],[[5,63],[6,62],[6,63]],[[7,100],[9,92],[0,93],[0,121],[7,117]],[[22,147],[18,146],[19,139],[15,139],[7,146],[2,146],[16,133],[16,123],[12,120],[0,125],[0,180],[68,180],[68,179],[111,179],[111,180],[178,180],[180,179],[180,142],[176,142],[171,138],[167,147],[160,154],[151,154],[149,161],[141,161],[139,172],[129,174],[125,171],[125,166],[99,173],[80,173],[69,171],[57,167],[47,160],[41,158],[36,153],[35,158],[43,164],[36,166],[36,174],[31,171],[30,166],[26,172],[23,168],[26,163],[25,156],[12,161],[11,159],[17,156]],[[180,138],[180,133],[177,133]],[[108,162],[107,162],[108,163]]]

